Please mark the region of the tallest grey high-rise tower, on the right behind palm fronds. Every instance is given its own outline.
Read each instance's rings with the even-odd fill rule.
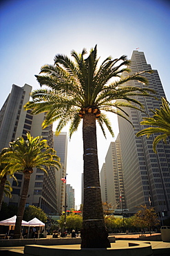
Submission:
[[[131,72],[151,70],[142,52],[134,51],[131,56]],[[158,71],[145,74],[149,80],[149,88],[154,89],[157,98],[136,96],[144,106],[145,111],[152,115],[151,110],[160,108],[161,98],[165,97]],[[127,86],[140,86],[137,81],[130,81]],[[136,211],[138,205],[152,205],[160,216],[170,216],[170,146],[162,141],[158,143],[157,154],[153,152],[154,136],[137,138],[136,133],[144,127],[140,125],[145,113],[136,109],[126,109],[129,120],[134,128],[123,118],[118,117],[120,145],[123,158],[123,173],[125,177],[125,194],[127,208]]]

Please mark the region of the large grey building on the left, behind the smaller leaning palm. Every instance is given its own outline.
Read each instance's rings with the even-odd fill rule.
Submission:
[[[41,127],[45,114],[40,113],[33,116],[30,110],[25,111],[23,109],[24,104],[30,100],[31,91],[32,86],[28,84],[23,87],[12,85],[12,91],[0,111],[1,149],[8,147],[10,141],[16,140],[20,136],[26,138],[27,132],[30,132],[33,137],[42,136],[43,139],[47,140],[48,145],[53,147],[52,125],[45,129]],[[10,205],[18,205],[23,187],[23,174],[16,173],[15,176],[17,177],[18,185],[10,179],[13,188],[12,198],[5,197],[5,201]],[[48,171],[48,175],[34,168],[30,179],[26,205],[39,206],[45,213],[56,214],[56,170],[53,167]]]

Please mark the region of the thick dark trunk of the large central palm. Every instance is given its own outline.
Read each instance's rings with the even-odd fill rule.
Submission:
[[[94,113],[83,116],[84,199],[81,248],[110,247],[100,193],[96,118]]]

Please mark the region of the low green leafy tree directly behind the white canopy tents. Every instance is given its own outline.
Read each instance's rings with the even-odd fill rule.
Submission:
[[[23,219],[25,221],[30,221],[34,217],[36,217],[43,223],[45,223],[47,221],[47,215],[41,208],[34,206],[34,205],[29,205],[28,207],[25,208],[25,211],[23,214]]]

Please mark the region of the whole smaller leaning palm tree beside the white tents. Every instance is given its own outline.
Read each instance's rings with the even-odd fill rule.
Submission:
[[[14,228],[14,238],[16,239],[21,238],[21,222],[33,168],[37,167],[47,173],[45,167],[47,169],[50,169],[50,167],[55,167],[56,169],[61,167],[59,156],[56,156],[55,150],[47,145],[47,140],[41,139],[41,136],[33,138],[30,134],[27,134],[26,140],[20,137],[10,143],[9,149],[3,154],[3,163],[8,163],[3,170],[4,173],[10,170],[10,173],[13,174],[15,172],[23,172],[24,174],[23,189]]]

